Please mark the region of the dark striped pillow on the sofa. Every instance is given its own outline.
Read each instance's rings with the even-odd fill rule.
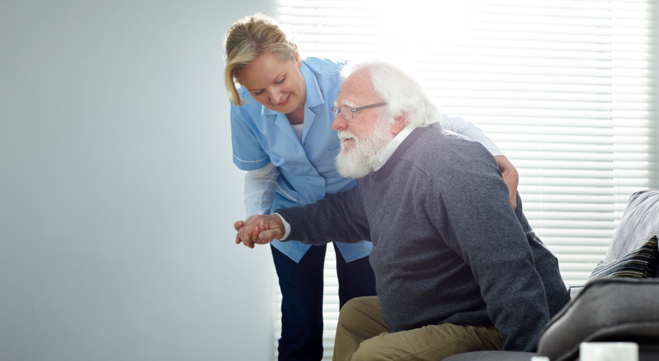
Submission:
[[[657,236],[654,235],[639,249],[614,262],[600,262],[588,280],[595,278],[631,277],[654,278],[659,260]]]

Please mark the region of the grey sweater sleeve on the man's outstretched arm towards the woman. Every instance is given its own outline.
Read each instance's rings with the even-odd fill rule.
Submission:
[[[352,190],[328,194],[316,203],[279,208],[275,212],[291,225],[291,233],[286,240],[314,245],[371,241],[368,220],[359,195],[359,183]]]

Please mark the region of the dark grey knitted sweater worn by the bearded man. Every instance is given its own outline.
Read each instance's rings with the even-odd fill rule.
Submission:
[[[569,301],[558,260],[512,210],[496,161],[480,143],[416,128],[380,170],[314,204],[276,211],[289,240],[373,242],[371,265],[391,332],[494,324],[503,349],[533,351]]]

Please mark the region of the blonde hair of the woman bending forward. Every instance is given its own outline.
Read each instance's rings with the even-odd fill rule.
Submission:
[[[288,61],[295,56],[297,47],[293,37],[268,15],[254,14],[243,17],[231,25],[224,38],[225,87],[229,100],[242,106],[236,83],[238,76],[262,53],[274,53],[279,60]]]

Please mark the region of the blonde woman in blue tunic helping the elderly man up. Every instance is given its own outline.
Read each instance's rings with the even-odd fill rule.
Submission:
[[[334,168],[340,146],[330,108],[341,87],[341,63],[303,60],[291,36],[261,14],[229,28],[225,57],[234,163],[247,171],[247,217],[354,187],[354,179],[341,178]],[[441,125],[485,144],[515,194],[516,170],[480,129],[446,115]],[[334,244],[341,306],[354,297],[375,296],[371,247],[369,242]],[[283,296],[279,360],[320,360],[325,246],[273,241],[270,249]]]

